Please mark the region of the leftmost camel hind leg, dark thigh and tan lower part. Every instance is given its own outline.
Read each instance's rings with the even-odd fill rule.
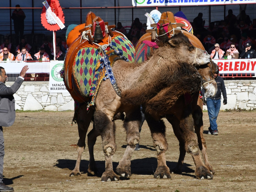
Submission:
[[[76,150],[78,152],[75,169],[69,174],[69,176],[72,175],[81,175],[80,173],[80,162],[82,158],[82,153],[84,152],[85,148],[85,137],[86,133],[88,131],[88,127],[90,126],[92,116],[93,116],[94,110],[86,110],[86,106],[81,106],[76,111],[76,122],[78,127],[78,134],[79,134],[79,140],[77,142]]]

